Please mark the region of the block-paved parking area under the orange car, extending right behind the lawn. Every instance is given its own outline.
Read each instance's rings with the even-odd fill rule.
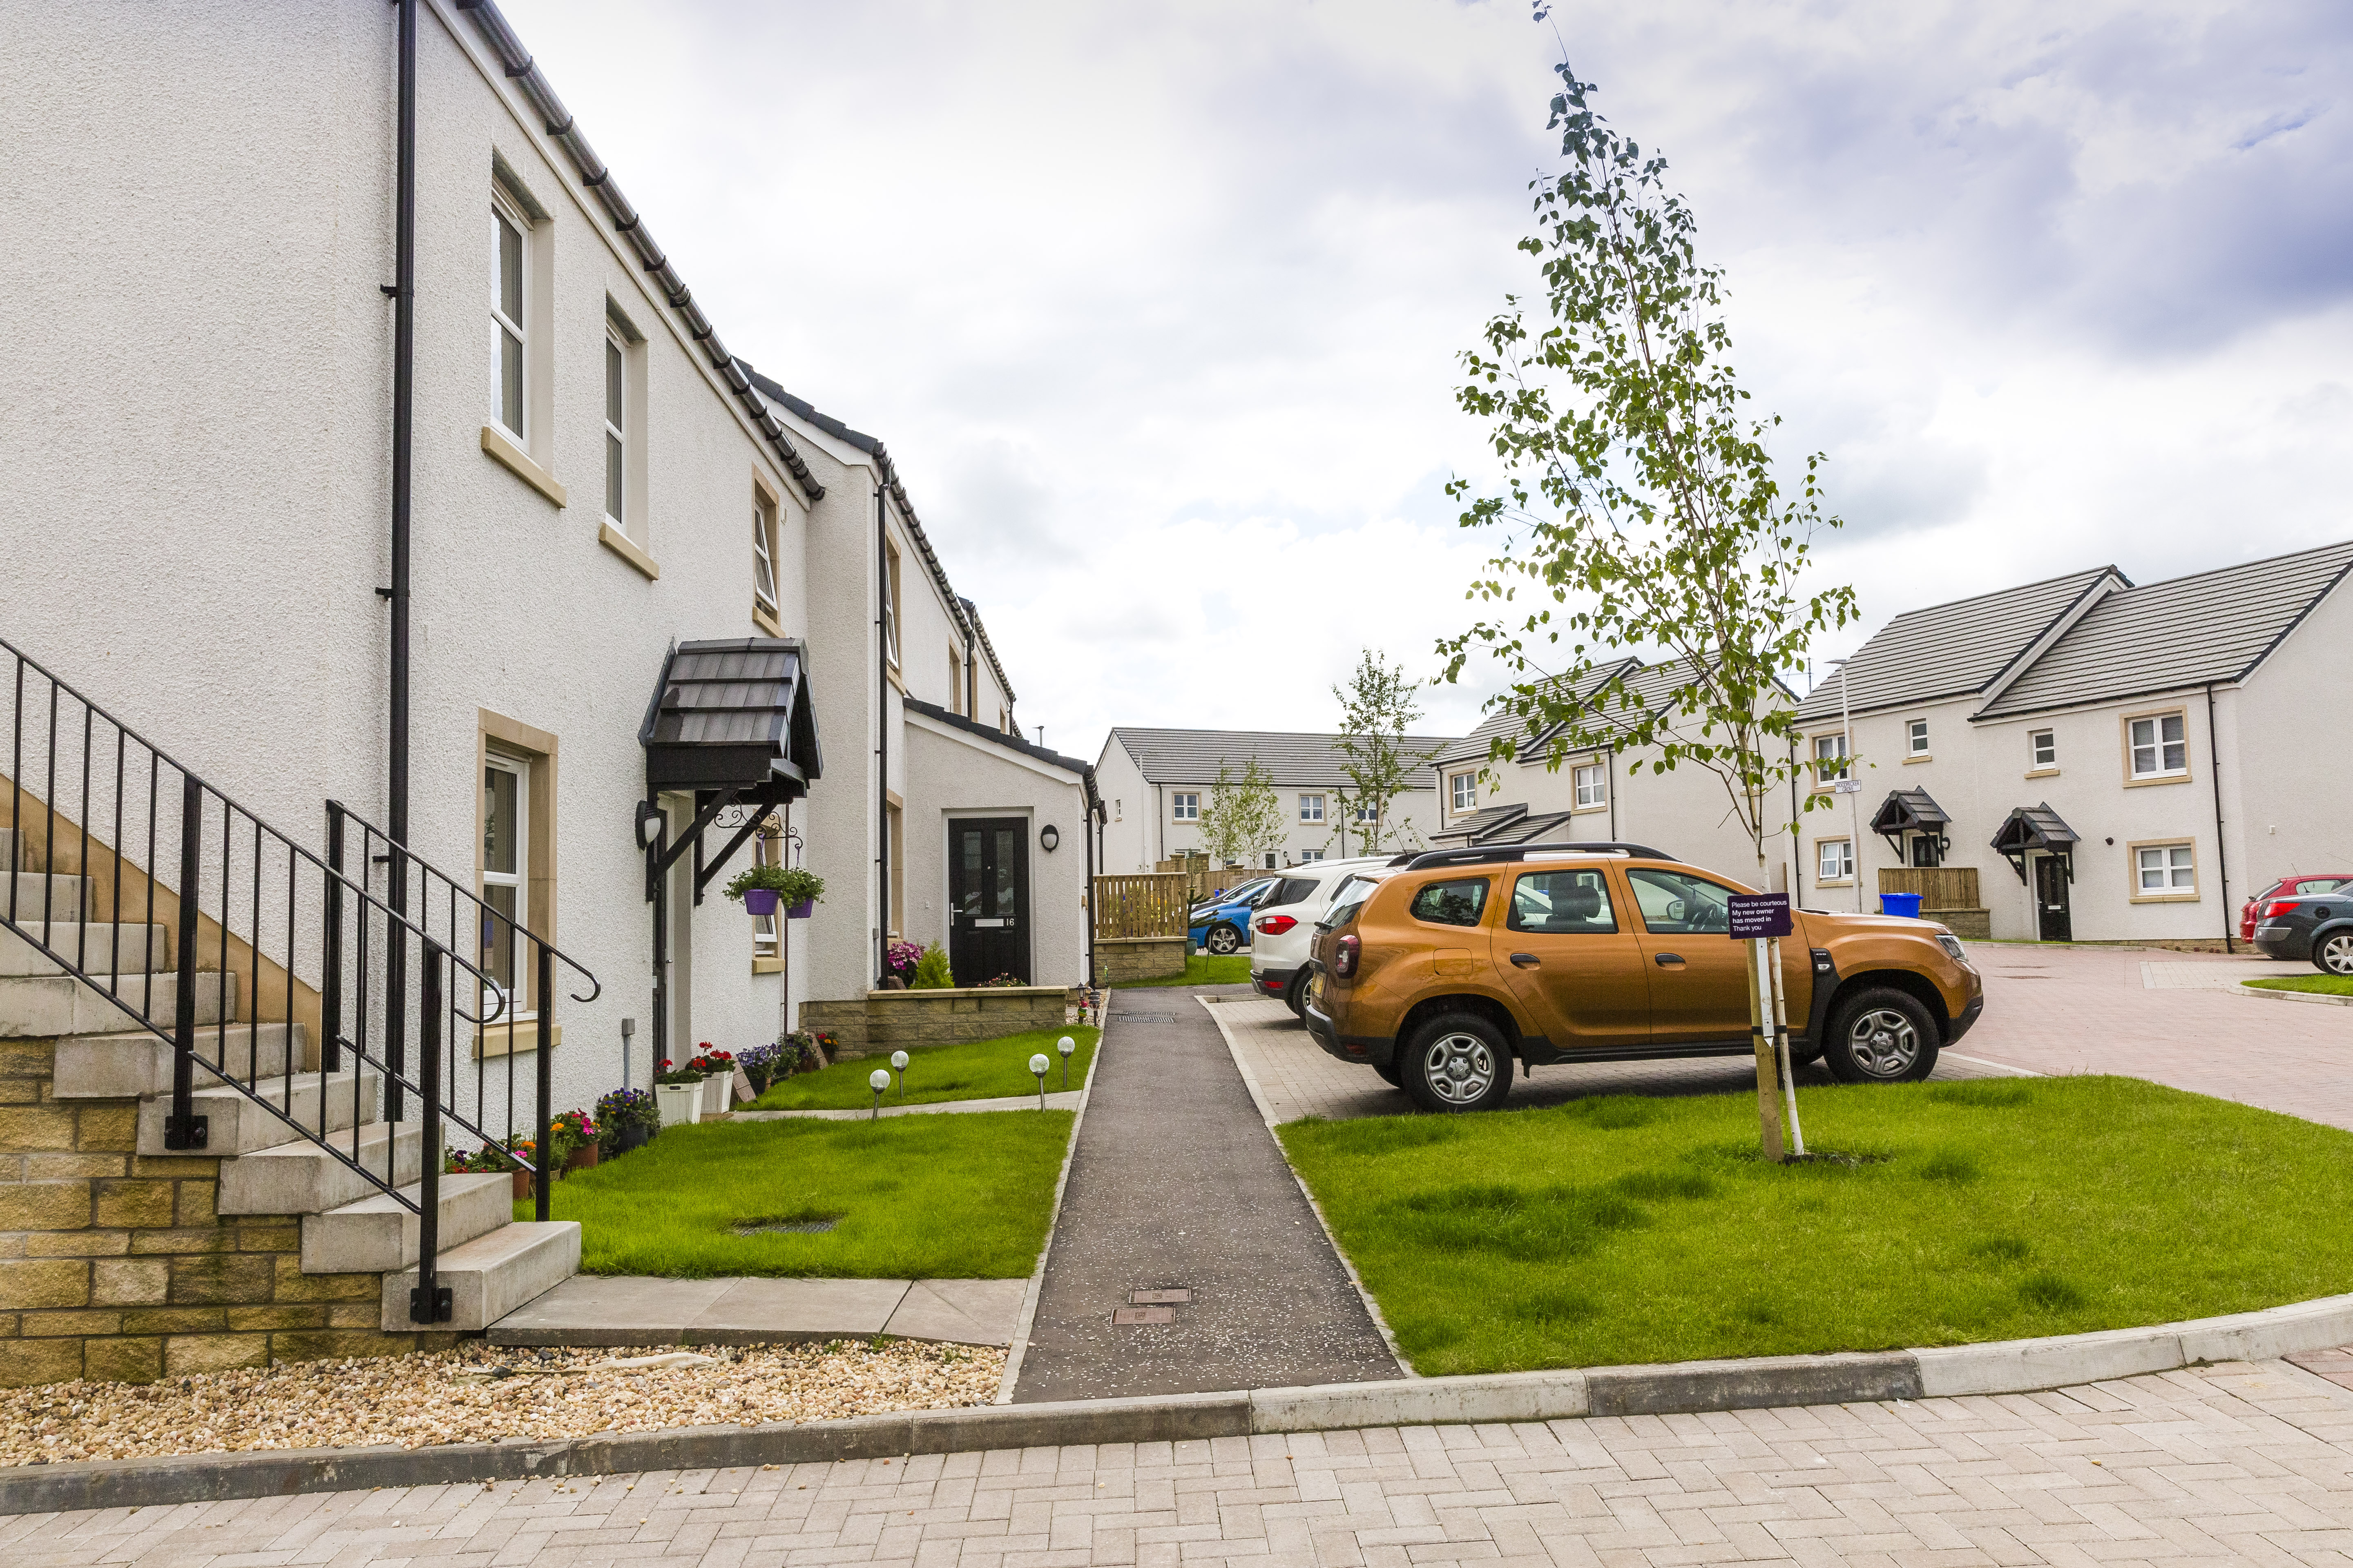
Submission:
[[[1969,943],[1986,1016],[1937,1058],[1939,1079],[2115,1072],[2353,1128],[2353,1009],[2233,994],[2311,964],[2113,947]],[[1395,1117],[1409,1103],[1369,1067],[1315,1048],[1280,1001],[1221,994],[1217,1016],[1275,1121]],[[1831,1084],[1819,1063],[1800,1086]],[[1537,1067],[1513,1105],[1595,1093],[1753,1093],[1748,1058]]]

